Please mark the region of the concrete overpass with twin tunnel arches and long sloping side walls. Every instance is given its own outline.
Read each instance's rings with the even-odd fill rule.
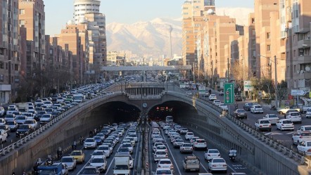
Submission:
[[[106,95],[81,103],[53,119],[52,122],[26,136],[17,143],[2,148],[1,174],[11,174],[12,169],[31,169],[38,157],[55,154],[61,146],[71,145],[79,136],[99,124],[132,120],[137,116],[117,116],[116,108],[131,106],[141,116],[148,117],[158,105],[174,108],[174,120],[193,131],[201,133],[207,141],[224,150],[236,148],[240,160],[253,167],[258,174],[309,174],[310,160],[294,153],[276,141],[246,126],[220,108],[195,96],[186,96],[182,89],[171,83],[114,84]],[[111,110],[113,108],[113,110]],[[114,117],[106,117],[105,114]],[[191,119],[190,119],[191,118]],[[23,164],[23,167],[20,166]]]

